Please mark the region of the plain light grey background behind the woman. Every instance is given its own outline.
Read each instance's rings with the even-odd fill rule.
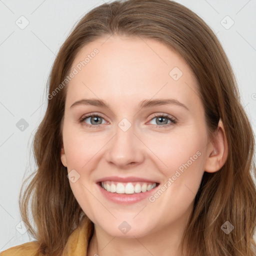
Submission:
[[[204,19],[220,40],[255,132],[256,1],[177,2]],[[50,67],[73,25],[102,3],[103,0],[0,0],[0,251],[30,241],[27,232],[20,233],[25,230],[19,223],[18,193],[24,175],[34,169],[30,145],[46,109],[45,85]],[[25,18],[20,18],[22,15]],[[21,29],[19,26],[25,25],[26,19],[29,24]],[[21,118],[28,123],[23,131],[16,126]]]

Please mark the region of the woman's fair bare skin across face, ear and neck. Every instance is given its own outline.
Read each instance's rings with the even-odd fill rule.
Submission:
[[[72,192],[94,223],[89,256],[180,254],[180,239],[192,211],[195,194],[204,171],[218,171],[227,156],[226,136],[221,120],[216,136],[209,139],[204,109],[198,97],[197,81],[185,60],[171,48],[153,39],[107,36],[85,45],[72,68],[97,48],[68,83],[63,122],[61,161],[67,171],[80,177],[70,182]],[[182,71],[174,80],[173,67]],[[188,86],[189,85],[189,86]],[[100,98],[109,106],[70,106],[83,98]],[[172,98],[183,103],[139,108],[144,99]],[[99,114],[93,122],[85,114]],[[168,114],[176,120],[163,124],[154,114]],[[123,131],[118,123],[126,118],[131,127]],[[165,127],[164,127],[165,126]],[[167,189],[150,202],[148,198],[123,205],[107,200],[95,181],[104,176],[138,176],[157,180],[161,187],[197,151],[201,154]],[[125,234],[118,226],[131,226]]]

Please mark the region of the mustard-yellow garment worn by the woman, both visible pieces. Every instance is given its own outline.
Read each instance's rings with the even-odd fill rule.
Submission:
[[[84,216],[77,228],[69,235],[65,244],[63,256],[86,256],[88,240],[92,234],[93,223]],[[36,241],[26,242],[0,252],[0,256],[42,256],[37,252]]]

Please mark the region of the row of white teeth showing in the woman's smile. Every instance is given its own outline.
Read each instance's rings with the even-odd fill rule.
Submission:
[[[134,185],[133,185],[134,184]],[[112,181],[102,181],[101,187],[104,188],[106,191],[111,193],[119,193],[119,194],[133,194],[133,193],[140,193],[140,192],[146,192],[148,190],[151,190],[156,186],[156,183],[135,183],[133,182],[128,183],[121,183],[117,182],[114,183]],[[141,185],[142,184],[142,185]]]

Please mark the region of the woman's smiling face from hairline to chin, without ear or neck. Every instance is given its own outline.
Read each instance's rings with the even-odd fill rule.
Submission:
[[[178,230],[212,149],[185,60],[153,39],[111,36],[85,45],[71,72],[61,161],[85,214],[113,236]]]

